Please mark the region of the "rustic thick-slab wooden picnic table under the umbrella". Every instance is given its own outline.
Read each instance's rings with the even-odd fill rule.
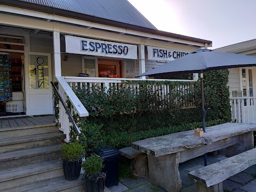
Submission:
[[[203,136],[184,131],[132,143],[132,148],[148,154],[149,179],[167,191],[180,191],[179,163],[207,152],[226,148],[228,157],[253,148],[256,124],[225,123],[206,127]]]

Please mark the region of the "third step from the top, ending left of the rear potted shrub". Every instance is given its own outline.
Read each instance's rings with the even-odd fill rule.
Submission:
[[[0,171],[60,159],[61,145],[11,151],[0,155]]]

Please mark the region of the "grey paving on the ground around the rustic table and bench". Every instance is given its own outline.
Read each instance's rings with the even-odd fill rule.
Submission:
[[[208,155],[208,164],[212,164],[227,158],[222,155]],[[188,179],[188,172],[204,166],[204,158],[197,157],[179,165],[180,177],[182,181],[181,192],[196,191],[196,184],[193,180]],[[161,187],[152,185],[149,178],[122,179],[118,186],[109,187],[111,192],[162,192],[166,191]],[[224,192],[255,192],[256,191],[256,165],[249,167],[241,173],[238,173],[223,182]],[[175,191],[173,191],[175,192]]]

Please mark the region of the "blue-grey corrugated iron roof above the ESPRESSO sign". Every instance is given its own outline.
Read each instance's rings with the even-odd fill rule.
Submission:
[[[91,15],[93,17],[128,23],[135,26],[156,29],[127,0],[19,0],[65,11]]]

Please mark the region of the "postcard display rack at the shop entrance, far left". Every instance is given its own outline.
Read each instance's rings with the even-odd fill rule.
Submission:
[[[12,100],[12,68],[8,53],[0,53],[0,101]]]

